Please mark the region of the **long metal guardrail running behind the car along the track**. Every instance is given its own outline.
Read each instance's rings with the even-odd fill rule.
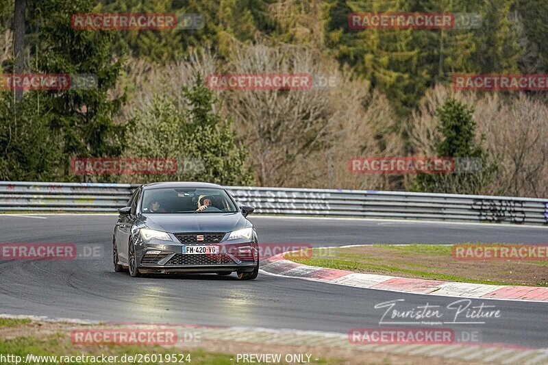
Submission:
[[[0,212],[115,212],[137,185],[0,181]],[[226,187],[257,214],[410,218],[548,225],[548,199],[483,195]]]

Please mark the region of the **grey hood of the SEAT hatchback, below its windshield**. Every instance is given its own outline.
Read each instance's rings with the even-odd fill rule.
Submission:
[[[141,221],[171,233],[229,232],[252,226],[240,213],[142,214]]]

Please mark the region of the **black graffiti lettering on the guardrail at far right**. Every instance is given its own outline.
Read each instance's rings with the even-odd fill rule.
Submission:
[[[479,211],[480,221],[523,223],[523,201],[474,199],[473,210]]]

